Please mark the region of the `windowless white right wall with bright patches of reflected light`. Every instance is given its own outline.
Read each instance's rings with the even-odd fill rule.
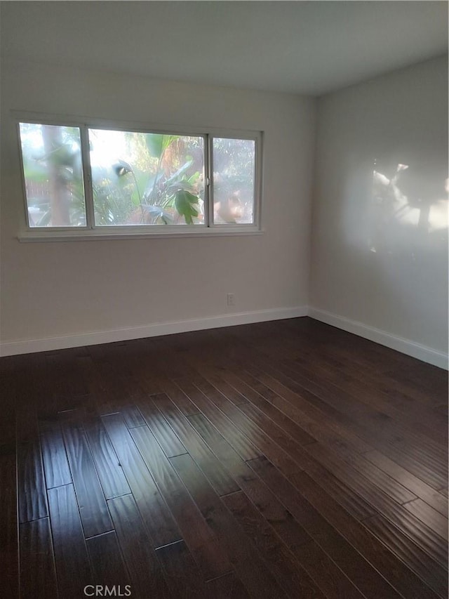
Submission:
[[[377,331],[382,343],[388,344],[388,336],[409,340],[402,347],[406,353],[417,344],[443,357],[448,351],[447,60],[323,96],[317,119],[312,313],[374,338],[369,327],[380,329],[387,333],[382,338]],[[398,164],[409,168],[401,171],[396,197],[376,197],[373,169],[391,178]],[[426,351],[415,354],[425,360],[432,354]],[[442,365],[438,359],[434,363]]]

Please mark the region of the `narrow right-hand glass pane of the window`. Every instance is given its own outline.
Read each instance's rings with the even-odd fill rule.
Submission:
[[[255,141],[214,138],[214,223],[253,223],[254,197]]]

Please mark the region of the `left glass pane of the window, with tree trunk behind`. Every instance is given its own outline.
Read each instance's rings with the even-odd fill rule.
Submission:
[[[78,127],[20,123],[30,227],[85,227]]]

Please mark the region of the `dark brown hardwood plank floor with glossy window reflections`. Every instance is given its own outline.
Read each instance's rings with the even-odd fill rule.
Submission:
[[[309,318],[0,369],[2,599],[448,596],[447,372]]]

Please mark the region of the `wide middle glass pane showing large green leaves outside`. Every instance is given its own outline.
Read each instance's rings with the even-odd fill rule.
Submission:
[[[204,221],[203,138],[89,129],[95,225]]]

